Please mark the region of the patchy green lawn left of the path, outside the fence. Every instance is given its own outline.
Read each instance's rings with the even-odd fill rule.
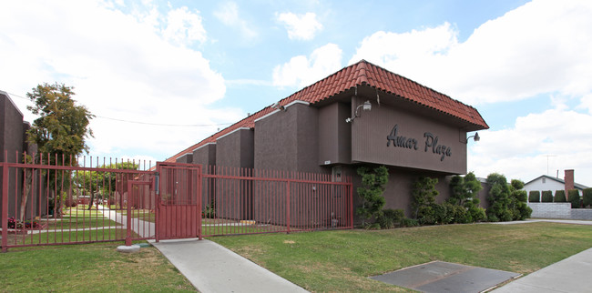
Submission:
[[[119,245],[11,248],[0,254],[0,292],[195,291],[156,248],[124,254]]]

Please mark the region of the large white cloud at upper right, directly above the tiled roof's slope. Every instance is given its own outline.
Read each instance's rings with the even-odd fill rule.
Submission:
[[[535,0],[459,43],[453,25],[362,40],[365,58],[469,104],[592,91],[592,2]]]

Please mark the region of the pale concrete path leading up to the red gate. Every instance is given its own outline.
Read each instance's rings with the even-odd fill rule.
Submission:
[[[307,292],[209,240],[149,242],[200,292]]]

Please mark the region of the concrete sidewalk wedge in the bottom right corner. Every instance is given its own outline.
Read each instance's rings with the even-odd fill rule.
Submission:
[[[518,278],[493,292],[592,292],[591,273],[592,248]]]

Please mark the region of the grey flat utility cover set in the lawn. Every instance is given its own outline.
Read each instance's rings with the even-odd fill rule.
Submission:
[[[520,274],[433,261],[371,277],[384,283],[423,292],[482,292]]]

